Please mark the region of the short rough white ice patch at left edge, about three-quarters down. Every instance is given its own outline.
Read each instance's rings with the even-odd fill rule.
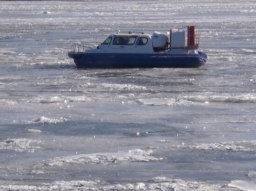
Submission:
[[[40,149],[41,140],[31,139],[7,139],[0,142],[0,150],[13,150],[16,152],[34,152]]]

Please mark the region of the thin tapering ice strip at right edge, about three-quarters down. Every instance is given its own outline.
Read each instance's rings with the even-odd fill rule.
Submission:
[[[171,146],[174,149],[185,150],[214,150],[214,151],[254,151],[256,148],[256,141],[226,141],[219,143],[200,143],[193,145],[178,145]]]

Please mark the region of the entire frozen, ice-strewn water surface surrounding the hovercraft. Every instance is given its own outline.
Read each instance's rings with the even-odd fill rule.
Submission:
[[[77,70],[73,42],[195,25],[196,69]],[[1,1],[0,190],[256,190],[255,0]]]

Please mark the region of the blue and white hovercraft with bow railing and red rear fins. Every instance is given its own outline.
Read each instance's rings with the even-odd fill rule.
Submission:
[[[197,51],[199,38],[195,26],[186,31],[117,32],[95,48],[75,43],[67,56],[77,68],[196,68],[206,63],[207,55]]]

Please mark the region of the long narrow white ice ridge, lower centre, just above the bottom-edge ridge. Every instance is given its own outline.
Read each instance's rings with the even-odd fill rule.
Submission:
[[[84,164],[84,163],[119,163],[122,161],[155,161],[163,160],[164,158],[156,158],[150,156],[153,150],[143,151],[141,149],[119,151],[115,153],[92,153],[79,154],[74,156],[58,157],[43,161],[45,166],[63,166],[68,164]]]

